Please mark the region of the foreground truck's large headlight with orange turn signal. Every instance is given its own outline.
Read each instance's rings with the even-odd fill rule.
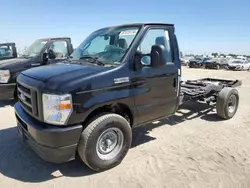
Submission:
[[[43,117],[46,123],[65,125],[72,111],[71,95],[43,94]]]

